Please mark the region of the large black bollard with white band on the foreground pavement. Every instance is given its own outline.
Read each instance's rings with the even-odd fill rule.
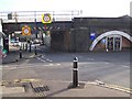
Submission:
[[[73,68],[73,87],[78,87],[78,58],[74,58],[74,68]]]

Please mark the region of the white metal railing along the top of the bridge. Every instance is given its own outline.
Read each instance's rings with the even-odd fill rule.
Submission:
[[[73,18],[79,16],[81,11],[6,11],[0,12],[0,19],[7,22],[36,22],[42,21],[42,14],[50,13],[54,21],[72,21]],[[11,14],[11,19],[9,16]]]

